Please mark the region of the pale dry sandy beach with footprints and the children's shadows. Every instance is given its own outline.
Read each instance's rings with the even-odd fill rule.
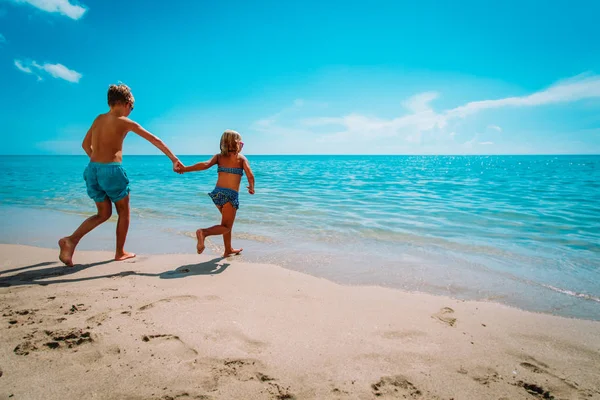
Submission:
[[[242,257],[0,245],[0,399],[600,399],[600,323]]]

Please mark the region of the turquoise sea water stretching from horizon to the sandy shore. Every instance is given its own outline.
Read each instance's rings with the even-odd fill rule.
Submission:
[[[249,159],[256,195],[241,192],[234,226],[246,261],[600,319],[600,156]],[[0,157],[0,240],[53,246],[70,233],[94,210],[86,163]],[[125,159],[133,251],[193,252],[195,229],[219,220],[206,195],[216,170],[180,176],[170,165]],[[114,225],[103,229],[81,248],[112,249]],[[210,241],[209,252],[220,248]]]

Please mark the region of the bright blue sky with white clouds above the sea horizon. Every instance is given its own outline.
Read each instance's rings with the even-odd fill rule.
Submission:
[[[484,3],[0,0],[0,154],[83,154],[118,81],[177,154],[600,153],[600,3]]]

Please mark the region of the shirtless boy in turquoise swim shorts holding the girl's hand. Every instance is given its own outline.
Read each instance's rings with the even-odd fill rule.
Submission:
[[[135,257],[134,253],[124,249],[129,229],[129,179],[121,166],[121,160],[123,140],[128,132],[137,133],[165,153],[173,162],[174,171],[182,167],[179,159],[162,140],[127,118],[133,111],[134,101],[129,87],[123,84],[110,85],[108,88],[110,110],[96,117],[83,139],[82,147],[90,157],[90,163],[84,171],[84,179],[88,196],[96,202],[98,212],[86,219],[71,236],[58,241],[59,259],[68,267],[73,266],[73,252],[81,238],[110,218],[112,203],[115,203],[119,214],[115,260],[122,261]]]

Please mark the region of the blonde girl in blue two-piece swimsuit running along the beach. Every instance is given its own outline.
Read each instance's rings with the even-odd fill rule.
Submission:
[[[231,246],[231,228],[235,221],[235,214],[239,208],[238,192],[242,175],[246,172],[248,178],[248,193],[254,194],[254,174],[250,169],[248,159],[240,154],[244,147],[242,136],[236,131],[227,130],[221,136],[221,153],[215,154],[209,161],[201,162],[190,167],[180,168],[180,172],[204,171],[217,164],[219,177],[215,189],[208,195],[211,197],[221,213],[221,224],[210,228],[198,229],[196,237],[198,254],[204,251],[204,240],[207,236],[223,235],[225,252],[223,257],[239,254],[243,249],[234,249]]]

